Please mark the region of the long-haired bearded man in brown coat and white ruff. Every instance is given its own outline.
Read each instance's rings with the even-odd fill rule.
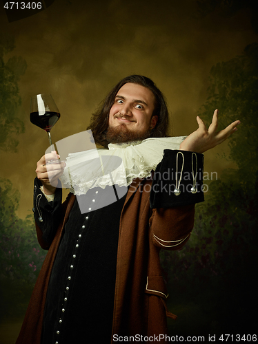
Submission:
[[[128,336],[153,340],[167,334],[166,316],[176,316],[166,308],[159,250],[186,244],[195,203],[203,201],[202,153],[226,140],[239,124],[216,133],[217,110],[208,130],[200,118],[197,122],[197,131],[175,144],[166,137],[168,109],[152,80],[137,75],[121,80],[92,116],[89,129],[96,143],[122,157],[126,183],[120,187],[126,193],[94,208],[110,197],[110,189],[115,191],[115,185],[100,187],[97,179],[86,193],[86,213],[72,193],[61,206],[56,186],[64,166],[46,166],[56,153],[39,160],[34,217],[48,255],[18,344],[114,343]],[[175,173],[165,180],[168,171]],[[184,173],[192,175],[190,182]]]

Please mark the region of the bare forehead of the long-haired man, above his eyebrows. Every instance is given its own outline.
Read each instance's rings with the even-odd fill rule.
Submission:
[[[148,106],[154,106],[155,96],[147,87],[134,84],[126,83],[119,89],[117,96],[123,96],[127,100],[143,100]]]

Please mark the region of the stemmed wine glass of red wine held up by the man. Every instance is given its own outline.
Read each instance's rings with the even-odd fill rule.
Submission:
[[[48,133],[48,140],[52,147],[50,130],[60,118],[59,109],[54,103],[51,94],[37,94],[30,101],[30,122]]]

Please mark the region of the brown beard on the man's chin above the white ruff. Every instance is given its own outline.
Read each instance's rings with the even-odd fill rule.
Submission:
[[[118,127],[108,127],[106,133],[106,140],[108,143],[142,141],[146,138],[150,138],[149,129],[147,131],[131,131],[124,124]]]

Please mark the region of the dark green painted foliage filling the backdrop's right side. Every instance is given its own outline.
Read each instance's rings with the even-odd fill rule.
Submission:
[[[210,122],[213,111],[220,109],[219,129],[241,120],[229,138],[229,158],[238,169],[226,170],[210,182],[206,201],[196,206],[195,228],[186,246],[161,253],[170,293],[198,300],[200,314],[208,314],[210,328],[212,321],[217,324],[217,333],[256,328],[249,305],[256,292],[257,86],[257,43],[248,45],[243,55],[212,67],[209,96],[199,116]],[[195,325],[200,331],[201,324]]]

